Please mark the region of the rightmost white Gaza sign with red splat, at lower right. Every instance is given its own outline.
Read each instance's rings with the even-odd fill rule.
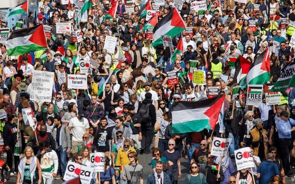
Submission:
[[[236,170],[255,167],[254,160],[251,155],[250,147],[241,148],[235,151]]]

